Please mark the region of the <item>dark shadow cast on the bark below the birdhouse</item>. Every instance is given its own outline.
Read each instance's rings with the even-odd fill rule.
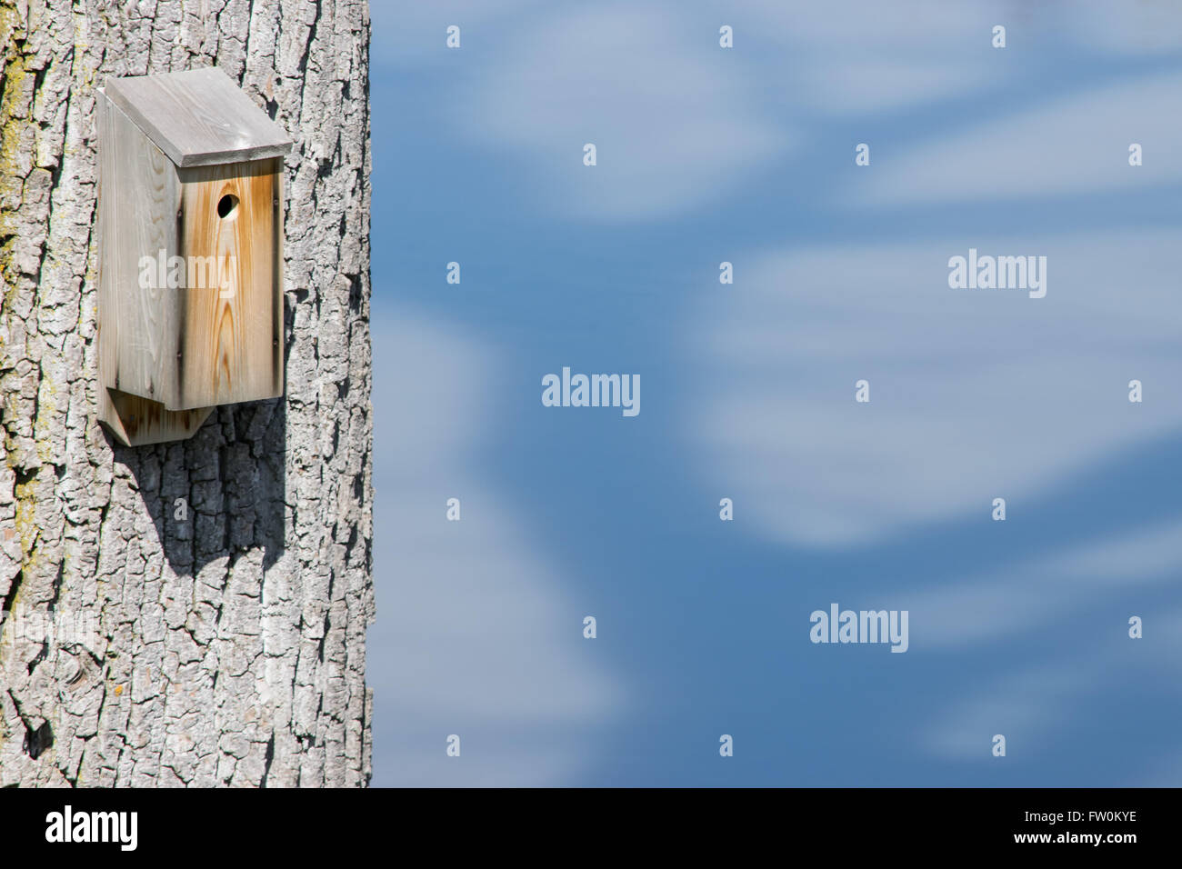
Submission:
[[[215,408],[189,440],[154,447],[113,441],[137,484],[171,570],[197,576],[262,550],[282,556],[287,407],[282,397]]]

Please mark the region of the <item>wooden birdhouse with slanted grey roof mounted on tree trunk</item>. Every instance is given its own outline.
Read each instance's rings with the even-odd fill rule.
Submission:
[[[99,420],[129,446],[284,391],[292,143],[221,70],[97,92]]]

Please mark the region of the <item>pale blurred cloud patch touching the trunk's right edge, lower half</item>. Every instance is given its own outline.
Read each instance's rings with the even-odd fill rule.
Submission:
[[[530,539],[527,511],[482,481],[495,358],[405,312],[375,326],[375,437],[396,445],[378,447],[375,474],[375,784],[566,780],[593,760],[570,731],[618,715],[624,689],[589,660],[585,612]],[[452,497],[460,521],[444,518]],[[567,738],[551,747],[556,731]],[[444,754],[452,733],[460,760]]]

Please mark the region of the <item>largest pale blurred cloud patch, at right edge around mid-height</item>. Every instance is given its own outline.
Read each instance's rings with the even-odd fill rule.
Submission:
[[[1021,510],[1111,450],[1182,427],[1168,231],[978,236],[766,254],[697,312],[694,463],[759,533],[866,545]],[[1047,255],[1047,296],[952,290],[948,258]],[[853,401],[865,378],[871,402]],[[1128,382],[1152,384],[1143,404]],[[1150,387],[1147,385],[1147,389]],[[1147,394],[1148,395],[1148,394]]]

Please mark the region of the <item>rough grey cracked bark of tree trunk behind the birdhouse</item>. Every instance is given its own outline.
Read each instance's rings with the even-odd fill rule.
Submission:
[[[365,784],[368,6],[0,0],[0,785]],[[210,64],[297,143],[286,396],[116,447],[95,87]]]

